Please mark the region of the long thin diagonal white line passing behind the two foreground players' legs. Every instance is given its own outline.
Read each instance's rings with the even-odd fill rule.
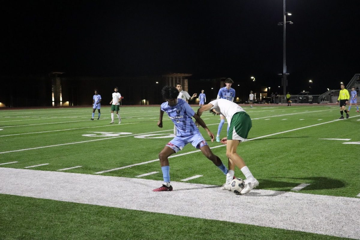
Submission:
[[[355,116],[355,117],[358,117],[358,116]],[[314,125],[310,125],[310,126],[306,126],[306,127],[295,128],[295,129],[291,129],[291,130],[287,130],[287,131],[283,131],[283,132],[276,132],[276,133],[272,133],[272,134],[265,135],[265,136],[254,137],[252,139],[248,139],[247,141],[252,141],[252,140],[261,139],[261,138],[264,138],[264,137],[270,137],[270,136],[274,136],[274,135],[278,135],[278,134],[282,134],[282,133],[292,132],[292,131],[296,131],[296,130],[300,130],[300,129],[304,129],[304,128],[308,128],[308,127],[319,126],[319,125],[322,125],[322,124],[332,123],[332,122],[336,122],[336,121],[339,121],[339,120],[342,120],[342,119],[336,119],[336,120],[329,121],[329,122],[323,122],[323,123],[318,123],[318,124],[314,124]],[[214,123],[214,124],[218,124],[218,123]],[[213,124],[208,124],[208,125],[213,125]],[[170,130],[168,130],[168,131],[170,131]],[[226,146],[226,145],[218,145],[218,146],[215,146],[215,147],[211,147],[210,149],[220,148],[220,147],[223,147],[223,146]],[[201,151],[201,150],[195,150],[195,151],[190,151],[188,153],[181,153],[181,154],[177,154],[177,155],[171,155],[168,158],[180,157],[180,156],[191,154],[191,153],[197,153],[199,151]],[[116,171],[116,170],[120,170],[120,169],[124,169],[124,168],[129,168],[129,167],[134,167],[134,166],[147,164],[147,163],[153,163],[153,162],[156,162],[156,161],[159,161],[159,160],[160,159],[154,159],[154,160],[150,160],[150,161],[146,161],[146,162],[141,162],[141,163],[131,164],[131,165],[123,166],[123,167],[113,168],[113,169],[109,169],[109,170],[105,170],[105,171],[101,171],[101,172],[95,172],[94,174],[101,174],[101,173],[105,173],[105,172]]]

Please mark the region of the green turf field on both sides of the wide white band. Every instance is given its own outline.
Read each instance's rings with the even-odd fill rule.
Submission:
[[[359,198],[359,113],[352,109],[349,119],[338,121],[336,106],[256,105],[244,109],[252,118],[248,138],[253,140],[241,143],[238,153],[260,182],[258,189],[292,191],[305,183],[310,185],[299,192]],[[91,107],[1,110],[0,167],[23,169],[46,164],[28,169],[58,172],[77,167],[63,171],[129,178],[158,172],[142,178],[158,180],[161,186],[159,162],[144,162],[158,159],[159,151],[172,139],[173,123],[164,116],[164,127],[157,127],[159,107],[122,107],[121,124],[117,120],[109,124],[109,112],[103,107],[100,120],[95,112],[91,121]],[[216,135],[219,117],[204,113],[202,119]],[[201,133],[210,147],[221,145],[211,142],[203,129]],[[141,135],[152,136],[139,138]],[[164,138],[153,138],[159,136]],[[190,153],[194,150],[188,144],[178,154],[189,154],[169,159],[171,181],[202,175],[187,182],[221,186],[224,175],[201,152]],[[227,165],[225,147],[212,151]],[[130,167],[133,164],[139,165]],[[235,175],[244,178],[238,169]],[[0,195],[0,205],[0,239],[337,238],[6,194]]]

